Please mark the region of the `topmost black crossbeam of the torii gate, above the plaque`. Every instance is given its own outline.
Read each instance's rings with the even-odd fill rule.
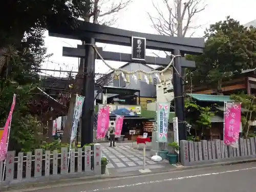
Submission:
[[[65,25],[54,26],[54,28],[49,29],[49,36],[85,41],[88,38],[94,38],[97,42],[130,47],[132,45],[132,36],[145,37],[147,49],[162,51],[180,50],[183,54],[201,54],[205,47],[204,38],[154,35],[101,26],[83,21],[78,21],[78,23],[79,26],[76,29]]]

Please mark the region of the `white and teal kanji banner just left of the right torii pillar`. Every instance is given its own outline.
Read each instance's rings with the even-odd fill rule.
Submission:
[[[169,111],[169,102],[157,103],[157,141],[161,143],[167,142]]]

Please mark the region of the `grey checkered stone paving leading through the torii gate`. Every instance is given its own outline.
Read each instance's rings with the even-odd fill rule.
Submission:
[[[140,145],[141,146],[141,145]],[[109,143],[101,143],[102,155],[109,160],[106,166],[110,173],[115,169],[117,172],[129,172],[139,170],[143,165],[143,150],[132,148],[132,143],[116,143],[110,147]],[[168,161],[154,162],[151,160],[150,151],[146,150],[146,168],[170,168]]]

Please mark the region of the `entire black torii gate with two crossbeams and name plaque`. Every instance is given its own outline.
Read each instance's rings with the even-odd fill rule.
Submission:
[[[164,35],[153,35],[127,31],[108,26],[101,26],[88,22],[77,21],[78,27],[72,29],[69,26],[56,26],[49,29],[49,36],[70,38],[85,41],[85,46],[78,45],[77,48],[63,47],[63,56],[84,57],[84,86],[83,96],[85,97],[82,111],[82,130],[81,145],[93,142],[93,123],[94,123],[94,76],[95,59],[99,57],[91,45],[95,42],[114,44],[121,46],[132,46],[132,54],[114,53],[103,51],[98,48],[98,52],[104,60],[115,60],[124,62],[138,62],[167,66],[170,62],[166,58],[150,57],[145,55],[145,50],[160,50],[172,52],[174,55],[201,54],[204,49],[204,38],[187,37],[169,37]],[[138,52],[137,40],[140,40],[140,49]],[[135,45],[136,44],[136,45]],[[139,53],[139,54],[137,54]],[[137,55],[136,55],[137,54]],[[195,62],[186,61],[184,57],[176,57],[174,60],[173,72],[175,112],[179,119],[179,139],[186,139],[186,126],[184,124],[184,97],[183,97],[183,79],[181,69],[196,67]]]

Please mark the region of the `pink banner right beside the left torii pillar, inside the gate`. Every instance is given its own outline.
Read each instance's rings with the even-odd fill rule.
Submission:
[[[110,109],[109,106],[103,106],[98,112],[98,122],[97,122],[97,139],[102,139],[105,137],[106,132],[109,129],[110,121]]]

